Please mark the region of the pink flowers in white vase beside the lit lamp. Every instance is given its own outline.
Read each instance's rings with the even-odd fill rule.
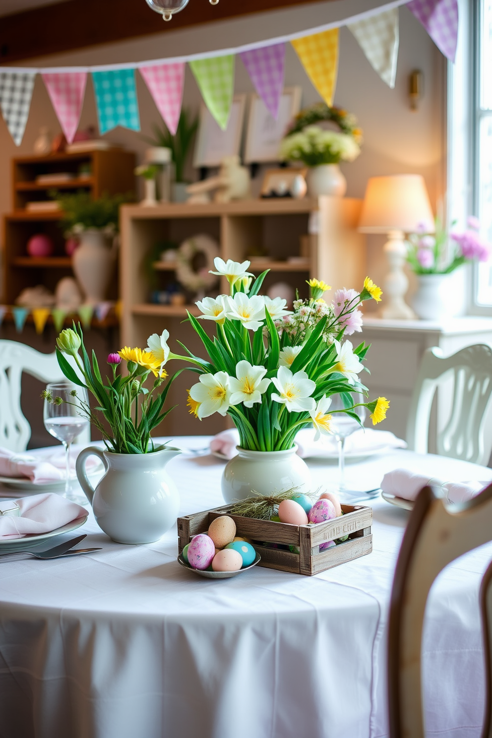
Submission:
[[[423,226],[409,235],[408,262],[412,271],[416,275],[447,275],[467,261],[488,261],[491,246],[480,238],[478,219],[468,218],[466,224],[464,232],[448,234],[436,218],[434,233]]]

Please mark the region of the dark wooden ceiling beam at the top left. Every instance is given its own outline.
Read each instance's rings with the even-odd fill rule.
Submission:
[[[66,0],[0,18],[0,64],[299,4],[304,1],[221,0],[212,6],[208,0],[191,0],[165,23],[145,0]]]

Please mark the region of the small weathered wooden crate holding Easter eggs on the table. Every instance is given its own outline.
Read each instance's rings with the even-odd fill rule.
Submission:
[[[255,550],[261,556],[259,566],[290,571],[294,574],[313,576],[333,566],[357,559],[373,551],[373,508],[362,505],[342,505],[343,515],[335,520],[315,525],[290,525],[272,520],[232,515],[232,505],[197,512],[178,518],[179,553],[198,533],[207,533],[216,517],[229,515],[235,521],[238,536],[252,539]],[[325,551],[319,544],[348,535],[348,540]],[[299,554],[279,548],[267,548],[263,542],[299,547]]]

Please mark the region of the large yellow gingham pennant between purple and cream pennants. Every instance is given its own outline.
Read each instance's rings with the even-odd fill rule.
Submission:
[[[295,38],[292,46],[301,60],[309,79],[328,106],[333,105],[336,75],[339,68],[339,30],[315,33]]]

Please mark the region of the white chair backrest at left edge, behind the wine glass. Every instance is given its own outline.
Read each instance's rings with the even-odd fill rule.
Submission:
[[[21,410],[21,377],[26,372],[41,382],[66,382],[56,352],[41,354],[31,346],[0,340],[0,446],[25,451],[31,437],[30,424]],[[79,441],[89,442],[88,432]]]

